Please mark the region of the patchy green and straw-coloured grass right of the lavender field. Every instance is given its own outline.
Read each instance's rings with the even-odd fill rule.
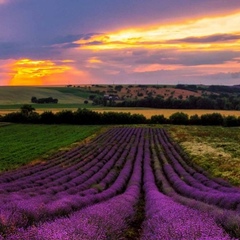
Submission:
[[[212,176],[240,186],[240,128],[168,125],[192,161]]]

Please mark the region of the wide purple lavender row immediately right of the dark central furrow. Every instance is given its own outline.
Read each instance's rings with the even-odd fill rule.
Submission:
[[[176,203],[159,192],[149,148],[146,142],[143,178],[146,219],[141,239],[230,239],[208,214]]]

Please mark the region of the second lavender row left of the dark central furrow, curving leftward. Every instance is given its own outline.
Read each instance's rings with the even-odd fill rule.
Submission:
[[[124,190],[126,182],[131,174],[134,164],[135,154],[139,141],[139,132],[137,132],[136,139],[134,140],[130,152],[127,156],[128,161],[120,171],[116,181],[112,183],[106,190],[82,197],[80,195],[61,195],[59,200],[53,200],[51,196],[36,196],[31,199],[21,200],[18,198],[18,193],[14,196],[12,204],[5,205],[2,208],[2,215],[5,219],[9,219],[13,214],[15,215],[15,224],[20,223],[23,226],[31,224],[31,221],[42,221],[43,219],[53,218],[68,214],[73,210],[80,209],[84,206],[94,204],[115,196]],[[21,221],[21,219],[25,219]]]

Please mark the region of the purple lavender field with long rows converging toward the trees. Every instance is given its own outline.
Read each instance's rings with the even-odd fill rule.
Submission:
[[[162,128],[113,127],[0,175],[0,239],[239,239],[240,190]]]

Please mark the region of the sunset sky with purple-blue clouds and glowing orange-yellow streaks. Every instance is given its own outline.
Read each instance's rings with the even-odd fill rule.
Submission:
[[[0,0],[0,85],[240,84],[239,0]]]

